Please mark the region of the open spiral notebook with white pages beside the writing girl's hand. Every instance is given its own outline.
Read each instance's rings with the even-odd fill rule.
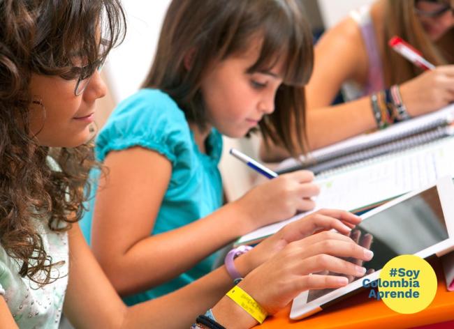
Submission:
[[[453,114],[454,105],[451,105],[433,114],[401,123],[400,127],[396,125],[388,128],[388,131],[356,137],[336,146],[314,151],[315,155],[325,156],[326,153],[339,152],[341,148],[351,150],[356,145],[363,146],[367,143],[375,145],[372,148],[388,148],[388,151],[379,155],[368,153],[367,158],[358,157],[348,164],[318,172],[315,181],[321,192],[314,198],[316,209],[338,208],[362,213],[432,183],[441,176],[454,175],[454,136],[451,134],[453,128],[448,125]],[[439,132],[440,130],[446,130],[447,133]],[[395,136],[399,138],[393,140]],[[377,140],[389,142],[382,146]],[[393,148],[395,144],[399,144],[399,148]],[[363,148],[363,151],[359,151],[361,152],[367,151]],[[355,154],[351,155],[352,158],[354,156]],[[286,160],[277,171],[295,167],[295,163],[300,164],[294,159]],[[258,243],[288,222],[309,213],[311,212],[261,227],[239,238],[235,245]]]

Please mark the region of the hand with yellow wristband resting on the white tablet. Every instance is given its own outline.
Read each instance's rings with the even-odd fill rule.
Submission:
[[[296,225],[293,227],[296,228]],[[318,225],[312,224],[311,227],[316,229]],[[271,259],[249,273],[239,285],[268,313],[273,314],[302,291],[339,288],[348,284],[346,277],[311,273],[328,270],[332,273],[361,277],[365,274],[365,268],[341,257],[369,261],[372,256],[372,252],[356,244],[348,236],[323,231],[287,243]],[[267,289],[263,289],[265,286]]]

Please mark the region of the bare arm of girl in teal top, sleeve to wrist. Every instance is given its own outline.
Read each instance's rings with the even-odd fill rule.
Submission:
[[[109,173],[96,196],[92,247],[120,294],[166,282],[245,233],[246,220],[229,204],[184,227],[149,236],[170,181],[170,162],[154,151],[130,148],[109,153],[105,165]]]

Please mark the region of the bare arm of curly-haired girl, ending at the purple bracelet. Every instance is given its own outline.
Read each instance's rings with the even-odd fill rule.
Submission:
[[[69,233],[69,246],[64,313],[75,328],[189,328],[198,314],[205,313],[232,286],[221,267],[177,292],[128,308],[91,254],[78,224]],[[154,268],[159,266],[154,263]]]

